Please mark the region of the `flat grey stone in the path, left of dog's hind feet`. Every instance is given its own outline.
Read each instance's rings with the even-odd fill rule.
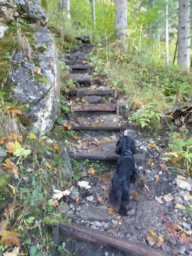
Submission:
[[[97,207],[87,207],[77,213],[77,218],[79,220],[109,222],[114,219],[115,216],[103,209],[98,209]]]

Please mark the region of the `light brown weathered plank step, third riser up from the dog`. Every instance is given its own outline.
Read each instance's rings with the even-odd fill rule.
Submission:
[[[116,111],[116,104],[89,104],[73,106],[74,111]]]

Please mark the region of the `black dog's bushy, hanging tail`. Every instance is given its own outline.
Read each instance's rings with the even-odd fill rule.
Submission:
[[[116,212],[121,205],[122,193],[121,183],[119,180],[116,180],[116,182],[113,182],[109,191],[109,203]]]

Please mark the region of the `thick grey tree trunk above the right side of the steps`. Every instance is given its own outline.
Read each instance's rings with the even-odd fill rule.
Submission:
[[[123,31],[127,29],[127,0],[116,0],[115,5],[115,31],[120,39]]]

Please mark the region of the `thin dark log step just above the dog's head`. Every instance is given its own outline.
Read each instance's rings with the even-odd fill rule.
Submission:
[[[67,129],[67,127],[63,125],[57,125],[58,129]],[[126,129],[126,128],[125,128]],[[123,126],[92,126],[92,125],[78,125],[72,126],[71,130],[73,131],[113,131],[118,132],[120,130],[124,130]]]

